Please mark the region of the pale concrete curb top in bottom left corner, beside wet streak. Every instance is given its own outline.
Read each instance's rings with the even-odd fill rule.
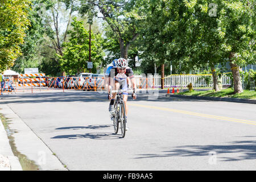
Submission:
[[[19,159],[14,156],[9,138],[0,118],[0,171],[23,171]]]

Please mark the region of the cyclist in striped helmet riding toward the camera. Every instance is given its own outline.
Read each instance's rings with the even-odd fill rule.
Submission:
[[[123,102],[125,103],[125,110],[126,110],[126,117],[128,113],[128,107],[127,107],[127,97],[128,97],[128,84],[129,81],[131,82],[129,86],[133,87],[134,93],[132,94],[133,99],[135,100],[137,98],[136,93],[136,82],[133,75],[133,70],[128,67],[128,62],[126,59],[123,59],[122,57],[115,61],[115,67],[110,69],[110,82],[114,82],[114,88],[115,90],[118,90],[119,88],[123,89]],[[109,111],[110,113],[113,113],[114,111],[114,98],[117,93],[113,93],[113,96],[109,96],[110,104],[109,104]],[[126,119],[127,121],[127,119]],[[129,128],[126,127],[128,130]]]

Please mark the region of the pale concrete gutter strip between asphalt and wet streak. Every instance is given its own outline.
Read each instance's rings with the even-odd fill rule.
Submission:
[[[40,171],[68,171],[67,168],[64,167],[64,165],[60,162],[60,160],[57,158],[56,155],[53,155],[53,152],[49,149],[49,147],[36,135],[30,127],[26,125],[26,123],[23,122],[19,116],[14,113],[13,110],[10,109],[10,107],[6,104],[1,105],[1,113],[5,115],[7,118],[11,118],[9,127],[12,130],[16,130],[18,132],[13,133],[12,137],[15,139],[15,146],[16,150],[20,152],[20,154],[26,156],[28,160],[33,162],[35,166],[38,167],[37,170]],[[2,123],[2,122],[1,122]],[[3,127],[4,129],[4,127]],[[4,129],[5,130],[5,129]],[[1,133],[0,133],[1,134]],[[7,138],[7,133],[5,132],[5,138]],[[9,144],[9,140],[8,140]],[[0,154],[3,154],[2,152],[7,152],[11,147],[9,144],[9,147],[3,147],[2,148],[2,139],[0,136]],[[1,152],[2,151],[2,152]],[[11,151],[13,155],[13,151]],[[10,152],[8,153],[10,155]],[[7,156],[7,154],[3,154]],[[15,166],[15,159],[10,158],[10,163],[14,162],[14,164],[11,164],[14,168]]]

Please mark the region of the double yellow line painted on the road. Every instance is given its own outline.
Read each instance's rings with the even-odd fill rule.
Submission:
[[[201,113],[195,113],[195,112],[185,111],[185,110],[170,109],[170,108],[166,108],[166,107],[147,106],[147,105],[130,104],[130,103],[128,105],[137,106],[137,107],[144,107],[144,108],[149,108],[149,109],[171,111],[171,112],[174,112],[174,113],[196,115],[196,116],[204,117],[204,118],[214,118],[214,119],[220,119],[220,120],[224,120],[224,121],[233,121],[233,122],[246,123],[246,124],[249,124],[249,125],[256,125],[255,121],[247,121],[247,120],[244,120],[244,119],[234,119],[234,118],[222,117],[222,116],[218,116],[218,115],[201,114]]]

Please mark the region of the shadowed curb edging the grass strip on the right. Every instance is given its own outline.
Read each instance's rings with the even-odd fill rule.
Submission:
[[[225,101],[225,102],[239,102],[246,104],[256,104],[256,100],[250,100],[245,98],[221,98],[221,97],[203,97],[203,96],[182,96],[174,94],[166,94],[166,97],[179,97],[179,98],[192,98],[199,100],[210,100],[210,101]]]

